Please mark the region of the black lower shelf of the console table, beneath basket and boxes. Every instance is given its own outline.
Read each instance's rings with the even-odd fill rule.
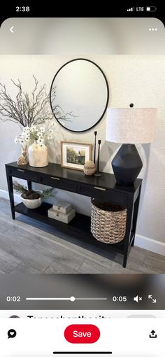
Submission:
[[[107,252],[115,250],[124,254],[124,241],[117,244],[105,244],[101,243],[101,241],[97,241],[93,237],[90,232],[90,217],[76,214],[76,217],[73,218],[69,224],[66,224],[48,217],[48,209],[50,209],[50,207],[52,207],[52,204],[44,202],[38,209],[28,209],[23,203],[20,203],[15,206],[15,212],[29,216],[48,225],[52,225],[56,230],[64,232],[66,235],[72,234],[75,236],[74,234],[76,234],[76,239],[78,241],[83,241],[85,244],[96,246],[103,251]]]

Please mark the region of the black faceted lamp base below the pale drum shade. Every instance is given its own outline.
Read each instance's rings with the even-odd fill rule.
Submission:
[[[119,185],[132,186],[143,167],[134,144],[123,144],[112,161],[115,179]]]

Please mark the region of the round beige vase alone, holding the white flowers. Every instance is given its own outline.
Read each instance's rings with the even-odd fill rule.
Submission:
[[[48,166],[48,148],[44,144],[41,146],[34,141],[28,148],[29,165],[33,167]]]

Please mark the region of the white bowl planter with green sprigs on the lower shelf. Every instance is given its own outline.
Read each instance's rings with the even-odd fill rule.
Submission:
[[[17,193],[21,193],[22,202],[29,209],[36,209],[45,198],[55,196],[55,188],[45,188],[43,191],[28,190],[17,181],[13,182],[13,188]]]

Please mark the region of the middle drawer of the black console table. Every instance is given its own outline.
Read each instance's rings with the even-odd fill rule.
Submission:
[[[55,188],[61,188],[62,190],[76,192],[76,182],[67,179],[62,179],[58,176],[42,176],[40,182],[43,185],[52,186]]]

